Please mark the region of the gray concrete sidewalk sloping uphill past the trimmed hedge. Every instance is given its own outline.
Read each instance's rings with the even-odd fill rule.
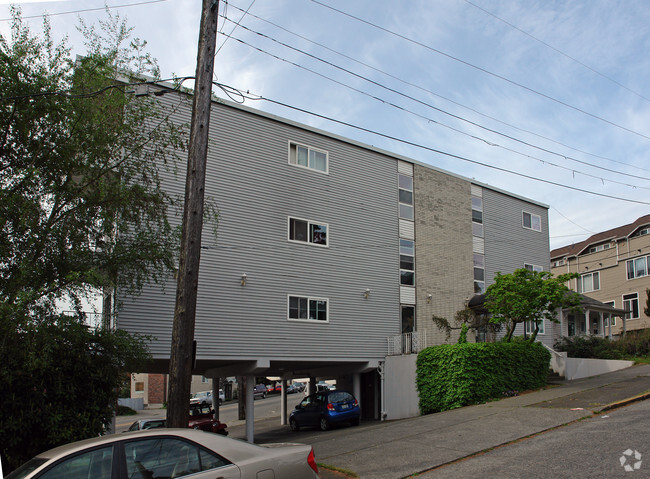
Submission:
[[[311,444],[319,463],[361,478],[405,478],[517,439],[650,397],[650,365],[575,381],[496,402],[399,421],[292,433],[273,421],[256,422],[256,443]],[[239,437],[239,427],[231,437]],[[321,468],[324,479],[342,476]]]

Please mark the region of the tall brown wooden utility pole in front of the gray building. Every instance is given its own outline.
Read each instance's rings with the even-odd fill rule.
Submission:
[[[201,261],[203,199],[205,187],[212,74],[217,43],[219,0],[203,0],[199,48],[196,59],[192,124],[185,183],[183,233],[178,264],[176,308],[169,363],[167,427],[187,427],[194,352],[194,322]]]

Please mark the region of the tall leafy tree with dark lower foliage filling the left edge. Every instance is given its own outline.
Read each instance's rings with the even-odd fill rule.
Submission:
[[[137,294],[168,277],[178,199],[161,178],[185,147],[173,111],[134,94],[123,69],[154,77],[157,69],[119,17],[97,30],[82,24],[88,51],[73,59],[47,19],[39,36],[12,14],[10,36],[0,36],[4,470],[102,434],[124,375],[142,370],[146,338],[89,328],[83,310],[95,293]],[[65,299],[75,315],[59,314]]]

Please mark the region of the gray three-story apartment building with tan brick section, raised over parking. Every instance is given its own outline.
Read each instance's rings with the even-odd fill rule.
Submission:
[[[189,123],[189,95],[159,101]],[[223,100],[210,139],[195,374],[336,379],[365,417],[396,417],[387,357],[445,342],[432,315],[453,319],[497,271],[549,269],[533,200]],[[174,279],[120,299],[117,326],[155,336],[151,372],[167,372]]]

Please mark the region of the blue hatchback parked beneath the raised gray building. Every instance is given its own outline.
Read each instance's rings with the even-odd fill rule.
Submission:
[[[324,390],[311,394],[300,401],[291,411],[289,425],[294,431],[304,426],[320,427],[327,431],[332,425],[343,422],[358,426],[361,408],[347,391]]]

